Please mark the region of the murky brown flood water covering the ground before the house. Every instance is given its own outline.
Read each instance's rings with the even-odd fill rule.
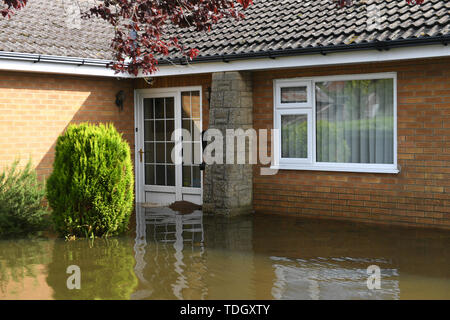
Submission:
[[[450,299],[449,248],[449,231],[139,208],[121,238],[0,241],[0,299]]]

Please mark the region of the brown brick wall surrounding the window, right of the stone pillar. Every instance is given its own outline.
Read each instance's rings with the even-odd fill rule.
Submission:
[[[273,127],[273,79],[397,72],[399,174],[254,171],[254,209],[450,228],[450,59],[253,74],[254,127]]]

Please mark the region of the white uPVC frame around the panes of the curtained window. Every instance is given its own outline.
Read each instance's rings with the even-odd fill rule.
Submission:
[[[325,81],[349,81],[349,80],[376,80],[393,79],[393,164],[371,164],[371,163],[336,163],[316,161],[316,101],[315,86],[317,82]],[[306,103],[281,103],[281,88],[308,86],[308,101]],[[274,80],[274,129],[275,145],[272,169],[276,170],[313,170],[313,171],[342,171],[342,172],[366,172],[366,173],[399,173],[397,163],[397,73],[368,73],[336,75],[312,78],[293,78]],[[286,159],[281,157],[281,115],[298,114],[310,112],[308,116],[308,159]]]

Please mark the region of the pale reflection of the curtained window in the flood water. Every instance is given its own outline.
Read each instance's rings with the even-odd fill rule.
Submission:
[[[397,269],[381,268],[381,289],[367,288],[366,266],[380,261],[331,258],[290,260],[272,257],[274,299],[399,299]],[[384,262],[386,263],[386,262]]]

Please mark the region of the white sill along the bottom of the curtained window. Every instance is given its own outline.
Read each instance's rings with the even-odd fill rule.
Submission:
[[[386,167],[352,167],[352,166],[330,166],[330,165],[287,165],[271,166],[273,170],[301,170],[301,171],[334,171],[334,172],[361,172],[361,173],[400,173],[400,168],[394,166]]]

